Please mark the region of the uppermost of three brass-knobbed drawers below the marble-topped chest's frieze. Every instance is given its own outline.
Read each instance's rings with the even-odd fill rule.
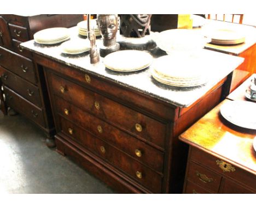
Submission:
[[[109,123],[123,127],[133,134],[149,140],[149,142],[161,147],[164,146],[166,127],[164,124],[87,90],[80,85],[66,81],[53,74],[50,75],[49,80],[56,95],[75,103],[78,107],[97,115],[97,117]]]

